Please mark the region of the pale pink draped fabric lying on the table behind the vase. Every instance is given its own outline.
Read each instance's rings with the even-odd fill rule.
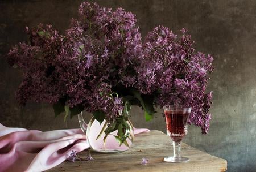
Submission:
[[[134,128],[134,134],[149,131]],[[72,150],[89,148],[81,129],[42,132],[0,123],[0,172],[44,171],[65,161]]]

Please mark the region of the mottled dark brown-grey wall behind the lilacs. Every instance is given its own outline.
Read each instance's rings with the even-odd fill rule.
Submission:
[[[53,118],[47,104],[30,103],[20,108],[14,92],[22,79],[10,68],[5,54],[19,41],[27,41],[24,27],[52,24],[63,32],[76,18],[82,1],[0,1],[0,123],[10,127],[39,130],[78,127],[77,119],[67,123]],[[142,36],[156,25],[175,33],[187,28],[197,50],[214,56],[215,71],[209,82],[213,90],[212,121],[208,135],[190,126],[184,140],[189,145],[228,161],[228,171],[256,171],[256,1],[96,1],[102,6],[122,7],[137,15]],[[162,110],[154,121],[144,122],[134,108],[133,123],[164,131]],[[171,150],[170,150],[171,152]]]

